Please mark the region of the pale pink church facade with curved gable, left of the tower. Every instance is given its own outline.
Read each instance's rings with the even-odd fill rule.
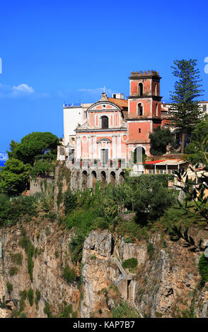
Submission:
[[[127,100],[107,97],[88,108],[85,124],[76,128],[76,160],[93,160],[108,165],[127,160]]]

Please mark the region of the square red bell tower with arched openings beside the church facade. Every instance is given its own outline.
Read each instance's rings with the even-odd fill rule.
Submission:
[[[158,71],[132,71],[129,77],[128,150],[141,146],[150,155],[149,134],[161,126],[161,98]]]

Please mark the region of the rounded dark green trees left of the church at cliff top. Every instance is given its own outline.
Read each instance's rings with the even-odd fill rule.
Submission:
[[[11,141],[8,160],[1,168],[0,189],[15,196],[28,188],[28,181],[36,175],[54,172],[59,139],[51,133],[31,133],[21,143]]]

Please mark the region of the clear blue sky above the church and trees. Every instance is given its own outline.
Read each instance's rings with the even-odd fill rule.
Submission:
[[[169,101],[175,59],[204,73],[207,1],[1,1],[0,152],[32,131],[63,135],[64,102],[129,95],[131,71],[154,69]]]

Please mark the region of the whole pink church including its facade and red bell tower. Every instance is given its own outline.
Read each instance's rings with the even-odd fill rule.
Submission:
[[[138,149],[150,155],[149,134],[162,124],[160,80],[158,71],[136,71],[129,77],[127,99],[102,93],[74,129],[74,145],[59,147],[57,159],[67,160],[71,167],[117,169],[127,167]]]

